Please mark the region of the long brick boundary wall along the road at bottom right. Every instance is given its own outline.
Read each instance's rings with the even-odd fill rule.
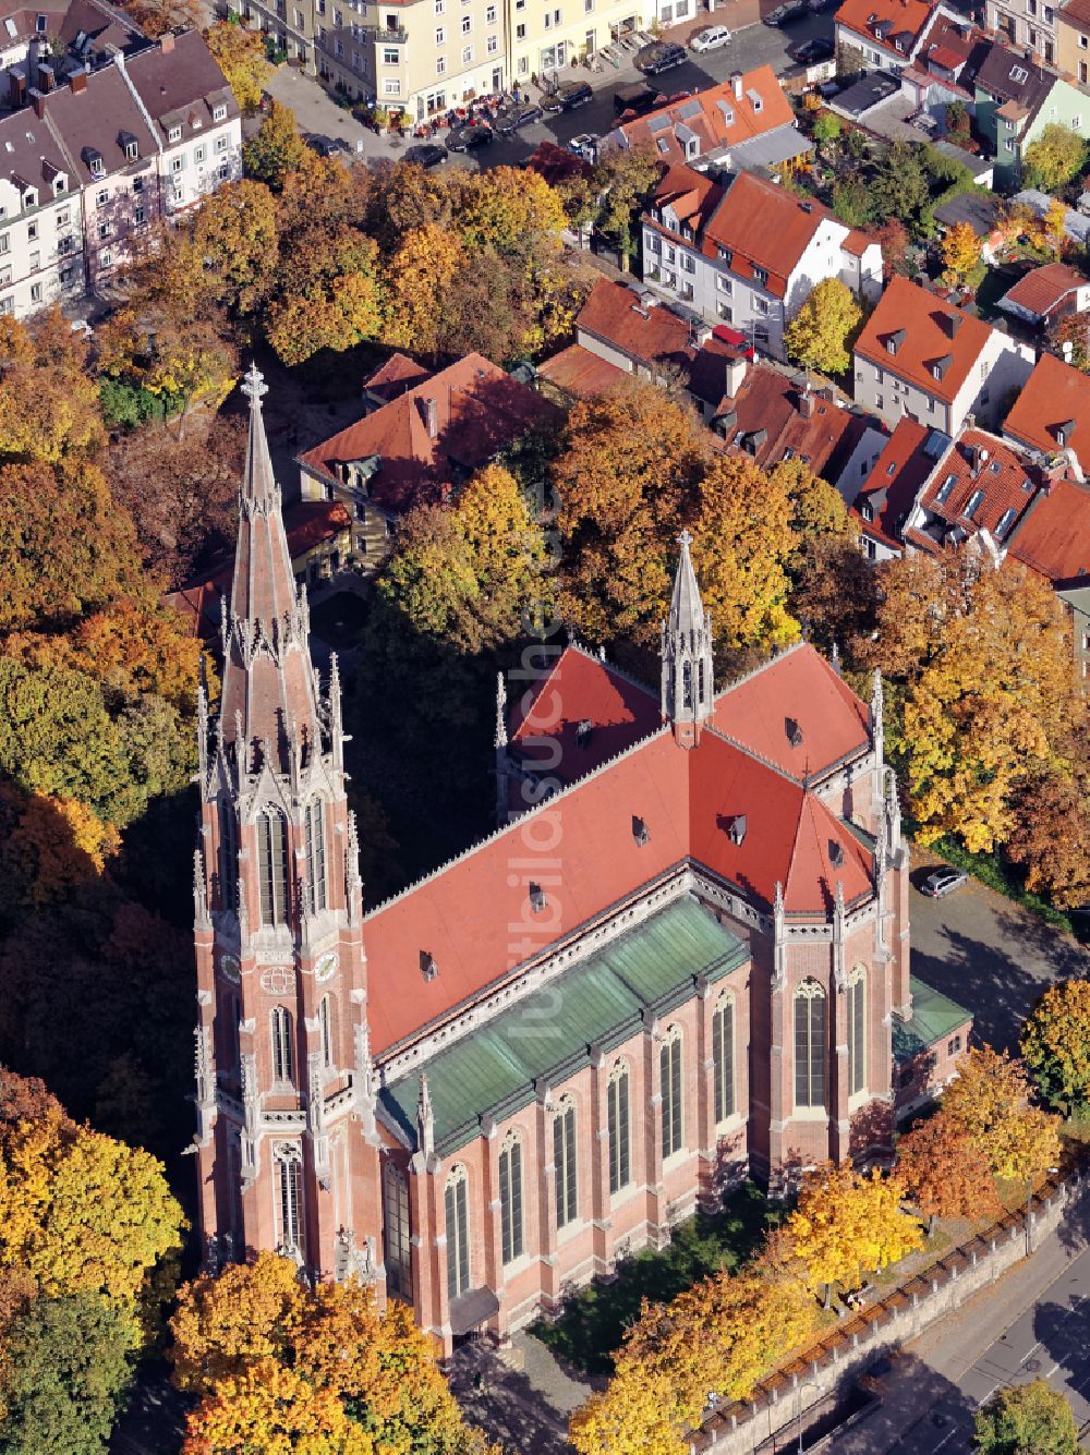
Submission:
[[[751,1455],[758,1445],[771,1440],[830,1395],[841,1395],[875,1359],[915,1339],[937,1318],[994,1283],[1026,1256],[1035,1238],[1039,1245],[1041,1238],[1051,1237],[1065,1209],[1083,1196],[1086,1181],[1086,1160],[1070,1158],[1026,1208],[1004,1213],[984,1232],[944,1253],[885,1298],[846,1318],[763,1379],[747,1401],[710,1414],[690,1436],[690,1452]]]

